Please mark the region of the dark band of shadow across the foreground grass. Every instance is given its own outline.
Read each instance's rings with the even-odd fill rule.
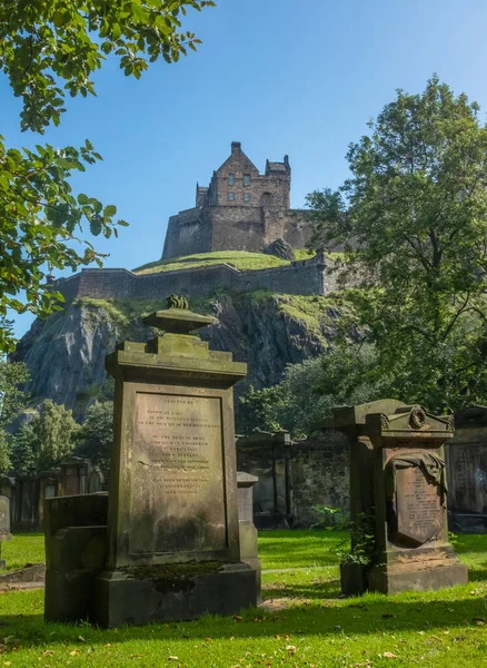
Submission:
[[[335,583],[332,583],[335,586]],[[310,586],[311,587],[311,586]],[[309,593],[308,588],[304,588]],[[302,590],[302,588],[301,588]],[[453,590],[450,590],[451,595]],[[465,590],[459,590],[465,597]],[[197,621],[181,621],[145,627],[102,630],[86,625],[43,625],[41,615],[2,616],[0,635],[13,636],[22,646],[49,647],[76,644],[81,633],[85,642],[103,646],[107,642],[135,640],[205,640],[244,639],[289,635],[369,635],[456,629],[453,635],[478,628],[487,618],[485,599],[478,593],[451,600],[410,600],[398,597],[366,596],[347,601],[324,600],[297,602],[289,608],[259,608],[244,610],[235,617],[205,617]],[[455,639],[455,638],[453,638]]]

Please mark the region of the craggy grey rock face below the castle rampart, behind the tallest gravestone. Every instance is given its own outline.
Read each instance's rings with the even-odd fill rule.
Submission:
[[[142,316],[163,307],[162,299],[152,304],[81,298],[44,322],[36,321],[14,357],[29,367],[26,390],[32,404],[52,399],[82,419],[95,400],[111,397],[105,356],[119,341],[150,338],[153,331],[142,324]],[[266,293],[222,294],[201,304],[191,301],[190,308],[218,318],[200,334],[212,350],[232,352],[236,361],[248,363],[247,380],[238,383],[236,397],[250,384],[274,385],[287,364],[322,353],[339,317],[328,297]]]

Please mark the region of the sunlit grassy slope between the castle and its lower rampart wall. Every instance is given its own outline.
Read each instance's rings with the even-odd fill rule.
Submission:
[[[314,253],[306,249],[295,250],[296,259],[307,259]],[[237,269],[268,269],[271,267],[284,267],[289,261],[279,259],[274,255],[264,253],[247,253],[246,250],[221,250],[216,253],[198,253],[185,257],[171,257],[157,259],[133,269],[136,274],[156,274],[157,272],[173,272],[175,269],[188,269],[190,267],[203,267],[215,264],[227,263]]]

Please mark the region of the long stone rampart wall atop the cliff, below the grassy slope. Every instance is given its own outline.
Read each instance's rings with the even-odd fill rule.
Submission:
[[[327,272],[330,262],[319,254],[284,267],[244,272],[223,263],[155,274],[133,274],[128,269],[82,269],[80,274],[57,281],[54,289],[62,293],[67,302],[77,297],[162,299],[170,294],[206,297],[217,289],[322,295],[335,287],[334,276]]]

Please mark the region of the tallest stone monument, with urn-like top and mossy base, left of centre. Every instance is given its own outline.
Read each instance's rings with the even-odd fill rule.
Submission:
[[[258,599],[240,559],[232,385],[246,364],[191,332],[213,318],[169,297],[161,334],[107,357],[116,380],[108,556],[96,584],[108,627],[233,613]]]

